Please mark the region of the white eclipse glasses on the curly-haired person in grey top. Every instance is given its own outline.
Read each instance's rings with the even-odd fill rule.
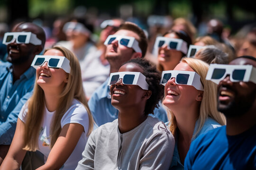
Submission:
[[[119,79],[122,79],[122,83],[124,85],[138,85],[143,90],[148,90],[148,84],[146,82],[146,76],[144,76],[141,72],[116,72],[111,73],[108,81],[108,85],[116,84]]]

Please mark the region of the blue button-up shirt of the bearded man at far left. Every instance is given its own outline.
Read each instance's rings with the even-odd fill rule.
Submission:
[[[18,113],[32,95],[36,78],[33,67],[13,83],[11,63],[0,63],[0,144],[11,144]]]

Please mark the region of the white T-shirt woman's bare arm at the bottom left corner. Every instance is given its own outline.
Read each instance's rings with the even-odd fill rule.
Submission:
[[[24,133],[25,125],[18,119],[15,135],[10,145],[9,152],[7,153],[4,161],[1,164],[0,170],[18,170],[22,160],[27,151],[23,150],[24,147]]]

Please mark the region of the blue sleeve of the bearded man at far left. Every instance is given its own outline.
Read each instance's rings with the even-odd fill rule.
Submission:
[[[9,145],[11,144],[12,138],[15,133],[18,114],[22,106],[31,97],[33,92],[26,93],[18,102],[16,107],[10,112],[5,122],[0,124],[0,144]]]

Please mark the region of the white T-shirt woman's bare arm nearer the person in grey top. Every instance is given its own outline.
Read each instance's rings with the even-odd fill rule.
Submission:
[[[49,153],[45,165],[37,170],[59,170],[73,152],[82,132],[83,126],[81,124],[65,124]]]

